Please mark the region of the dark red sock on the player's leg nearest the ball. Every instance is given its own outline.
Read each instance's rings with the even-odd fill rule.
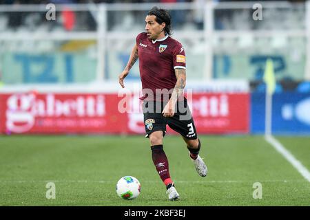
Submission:
[[[152,159],[156,170],[163,180],[163,183],[167,186],[167,184],[172,184],[172,180],[170,179],[169,174],[169,164],[168,159],[166,157],[165,151],[163,151],[163,144],[151,146],[152,149]]]

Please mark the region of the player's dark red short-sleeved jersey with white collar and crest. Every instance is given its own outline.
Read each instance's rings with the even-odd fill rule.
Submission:
[[[186,68],[184,48],[168,35],[152,41],[147,39],[147,33],[138,34],[136,45],[143,88],[142,99],[147,96],[147,100],[162,100],[161,96],[156,95],[156,89],[164,91],[163,93],[170,91],[171,94],[176,85],[174,69]],[[145,94],[147,89],[153,91],[154,97]]]

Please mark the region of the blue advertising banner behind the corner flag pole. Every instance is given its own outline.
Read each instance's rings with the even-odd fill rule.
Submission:
[[[265,132],[265,93],[251,94],[251,133]],[[310,134],[310,94],[273,95],[272,133]]]

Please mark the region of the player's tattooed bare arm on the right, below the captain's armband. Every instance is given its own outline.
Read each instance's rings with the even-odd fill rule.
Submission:
[[[176,68],[174,69],[176,74],[176,85],[174,87],[174,91],[172,91],[172,96],[169,99],[169,102],[166,104],[163,110],[164,117],[173,117],[175,112],[176,102],[178,101],[178,97],[183,95],[183,90],[186,85],[186,71],[185,69]]]

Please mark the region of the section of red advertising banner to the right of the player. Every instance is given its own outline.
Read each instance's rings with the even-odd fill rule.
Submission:
[[[248,133],[249,94],[193,94],[192,115],[198,133]]]

